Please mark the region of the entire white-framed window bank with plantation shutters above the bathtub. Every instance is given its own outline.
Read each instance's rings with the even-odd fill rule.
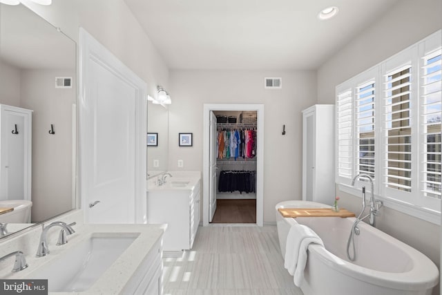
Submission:
[[[442,30],[336,86],[336,183],[440,224]]]

